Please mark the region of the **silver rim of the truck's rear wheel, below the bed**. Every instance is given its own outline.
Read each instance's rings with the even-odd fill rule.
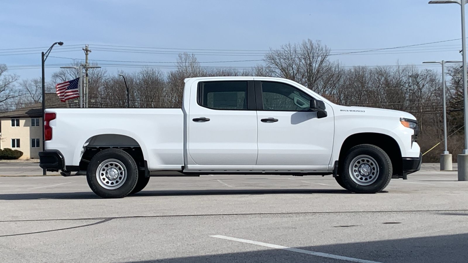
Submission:
[[[96,169],[97,182],[105,189],[117,189],[127,180],[127,169],[117,159],[107,159]]]

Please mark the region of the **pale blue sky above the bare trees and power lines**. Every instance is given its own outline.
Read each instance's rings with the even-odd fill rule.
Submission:
[[[180,50],[173,51],[189,52],[187,49],[260,50],[249,51],[256,53],[249,56],[197,55],[199,61],[206,62],[261,59],[264,50],[307,38],[321,40],[332,53],[460,38],[460,6],[427,2],[0,0],[0,49],[45,47],[45,51],[53,42],[63,41],[65,44],[54,47],[47,59],[46,64],[52,66],[72,61],[64,58],[83,59],[84,44],[90,45],[90,59],[150,62],[174,62],[176,54],[114,52],[97,45],[177,48]],[[425,60],[459,60],[459,49],[461,40],[400,49],[399,53],[359,53],[330,58],[345,66],[421,64]],[[22,78],[39,77],[40,68],[14,69],[18,65],[40,65],[40,49],[34,52],[37,54],[1,55],[0,63],[10,66],[9,72]],[[0,51],[0,54],[8,53]],[[256,63],[259,62],[203,65],[253,66]],[[46,78],[57,67],[48,67]],[[106,69],[110,73],[137,70],[124,66]]]

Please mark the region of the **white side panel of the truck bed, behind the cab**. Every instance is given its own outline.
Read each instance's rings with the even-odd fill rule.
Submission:
[[[121,134],[141,147],[150,170],[180,170],[183,166],[182,109],[46,109],[52,139],[46,149],[59,150],[66,166],[78,166],[93,136]],[[126,143],[126,142],[122,142]]]

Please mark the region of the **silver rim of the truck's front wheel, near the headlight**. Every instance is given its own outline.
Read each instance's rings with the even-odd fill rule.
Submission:
[[[349,172],[354,183],[369,185],[379,177],[379,166],[374,158],[363,154],[352,159]]]

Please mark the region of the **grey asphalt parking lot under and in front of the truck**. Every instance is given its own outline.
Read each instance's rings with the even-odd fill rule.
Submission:
[[[205,175],[102,199],[84,176],[0,177],[0,262],[467,262],[467,189],[456,171],[367,195],[331,175]]]

